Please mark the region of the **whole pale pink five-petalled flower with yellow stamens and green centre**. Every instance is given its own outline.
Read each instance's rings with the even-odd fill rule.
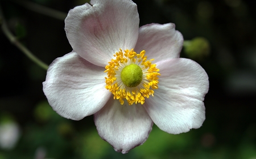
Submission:
[[[122,153],[143,144],[153,123],[170,134],[201,127],[208,75],[179,58],[174,24],[139,28],[134,2],[92,0],[69,11],[65,31],[73,51],[51,63],[43,82],[61,116],[94,114],[98,134]]]

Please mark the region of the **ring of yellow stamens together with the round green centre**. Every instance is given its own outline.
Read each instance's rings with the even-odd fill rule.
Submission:
[[[137,54],[133,49],[119,49],[114,58],[106,65],[106,89],[123,105],[144,104],[145,98],[154,96],[158,89],[159,69],[147,60],[146,51]]]

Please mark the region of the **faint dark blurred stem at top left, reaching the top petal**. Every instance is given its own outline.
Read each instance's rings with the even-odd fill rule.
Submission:
[[[9,0],[10,1],[10,0]],[[38,5],[36,3],[30,1],[20,1],[20,0],[11,0],[14,3],[17,3],[20,6],[27,8],[28,10],[38,12],[43,15],[51,16],[52,18],[64,20],[67,17],[67,13],[53,10],[52,8],[48,8],[42,5]]]

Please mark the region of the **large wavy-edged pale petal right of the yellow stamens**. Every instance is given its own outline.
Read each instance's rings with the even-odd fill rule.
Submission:
[[[171,134],[199,128],[205,120],[204,96],[208,75],[191,59],[177,58],[156,63],[160,69],[159,88],[145,100],[152,121]]]

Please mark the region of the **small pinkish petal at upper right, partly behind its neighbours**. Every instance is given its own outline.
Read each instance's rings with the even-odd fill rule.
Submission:
[[[148,24],[139,28],[135,51],[146,51],[148,59],[155,62],[169,58],[179,58],[183,46],[183,36],[175,31],[175,24]]]

